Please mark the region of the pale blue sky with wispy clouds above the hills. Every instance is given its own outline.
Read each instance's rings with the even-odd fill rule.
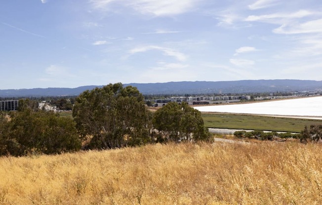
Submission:
[[[322,80],[321,0],[1,0],[0,89]]]

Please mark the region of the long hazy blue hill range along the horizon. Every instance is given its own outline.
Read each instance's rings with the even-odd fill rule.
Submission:
[[[315,80],[239,80],[239,81],[182,81],[167,83],[129,83],[143,94],[208,94],[208,93],[255,93],[292,92],[322,90],[322,81]],[[85,90],[100,86],[81,86],[78,88],[33,88],[0,90],[1,98],[76,96]]]

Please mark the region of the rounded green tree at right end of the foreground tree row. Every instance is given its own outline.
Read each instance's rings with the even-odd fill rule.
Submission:
[[[154,113],[154,128],[166,140],[210,140],[211,135],[204,127],[201,112],[190,107],[186,102],[169,102]]]

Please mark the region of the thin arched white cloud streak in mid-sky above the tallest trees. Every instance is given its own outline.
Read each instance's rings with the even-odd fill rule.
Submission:
[[[178,61],[185,61],[187,60],[187,56],[179,51],[173,50],[171,48],[164,48],[160,46],[143,46],[143,47],[137,47],[129,51],[130,54],[140,53],[140,52],[146,52],[149,50],[159,50],[163,52],[163,55],[171,56],[176,58]]]

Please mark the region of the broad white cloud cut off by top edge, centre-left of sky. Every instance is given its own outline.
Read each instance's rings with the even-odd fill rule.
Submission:
[[[111,4],[118,3],[142,14],[171,16],[188,12],[200,0],[89,0],[94,9],[109,10]]]

